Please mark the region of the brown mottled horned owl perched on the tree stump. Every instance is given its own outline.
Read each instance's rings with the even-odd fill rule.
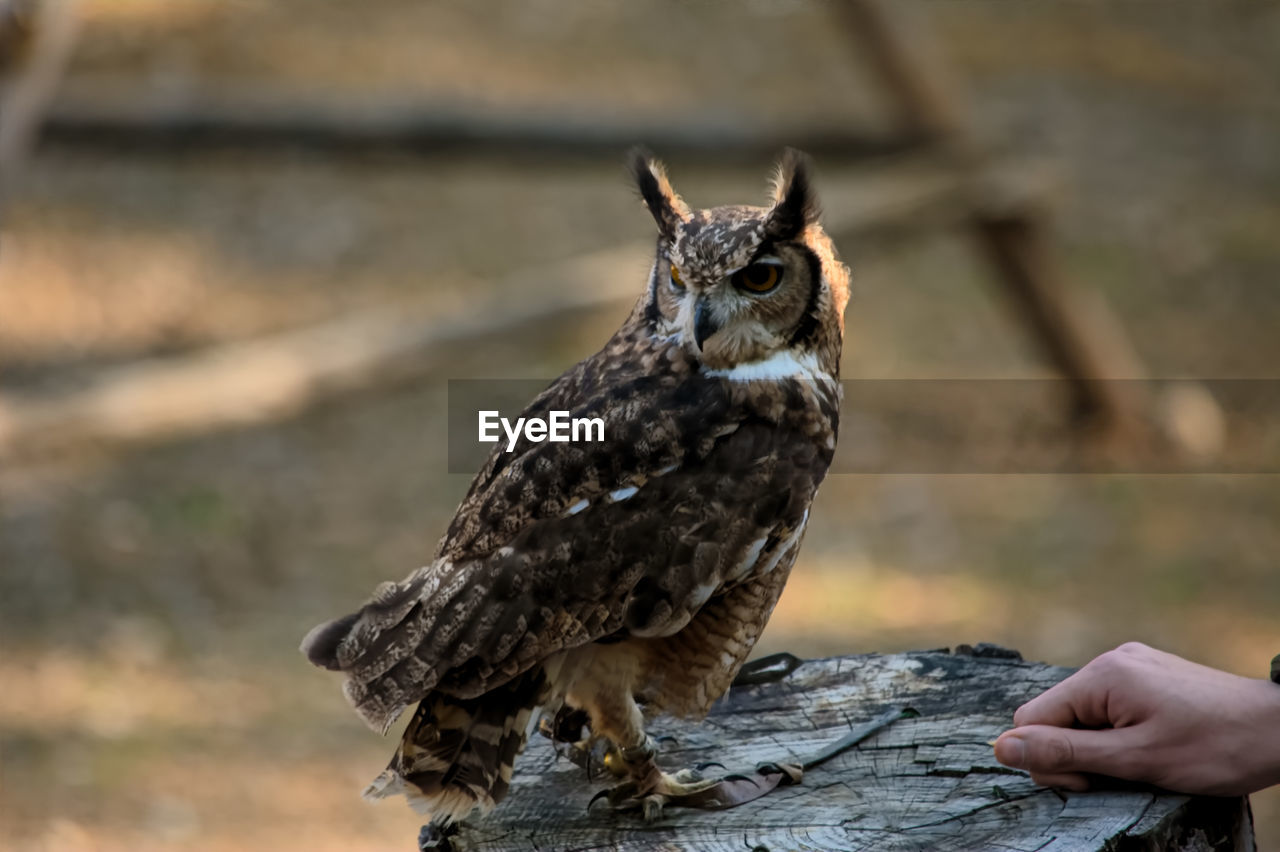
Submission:
[[[532,719],[563,707],[630,775],[616,803],[705,789],[658,770],[636,696],[700,716],[728,688],[836,448],[849,271],[806,160],[782,157],[769,206],[710,210],[644,152],[631,168],[658,223],[644,294],[525,411],[602,418],[604,440],[495,448],[431,563],[302,642],[375,729],[417,704],[366,796],[435,825],[499,802]]]

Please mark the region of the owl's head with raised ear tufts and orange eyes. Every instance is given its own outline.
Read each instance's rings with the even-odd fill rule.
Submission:
[[[645,307],[652,331],[709,372],[788,363],[836,376],[849,269],[818,223],[808,157],[782,155],[763,207],[691,210],[643,150],[631,170],[658,223]]]

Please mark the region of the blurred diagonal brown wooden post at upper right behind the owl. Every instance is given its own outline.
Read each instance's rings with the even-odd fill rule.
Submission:
[[[946,78],[924,27],[882,0],[847,0],[838,8],[859,55],[869,58],[892,95],[901,129],[932,136],[960,169],[979,165],[979,141],[964,118],[963,97],[954,78]],[[1139,379],[1144,371],[1119,324],[1101,316],[1091,321],[1070,298],[1051,256],[1046,211],[1036,205],[975,210],[973,228],[1020,321],[1068,377],[1075,420],[1111,438],[1137,434],[1149,400],[1140,383],[1115,380]],[[1101,302],[1091,307],[1096,315],[1106,311]]]

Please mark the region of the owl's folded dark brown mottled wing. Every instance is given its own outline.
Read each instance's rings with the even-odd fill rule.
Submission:
[[[829,463],[824,412],[771,398],[762,409],[723,380],[580,366],[525,416],[599,417],[604,440],[495,450],[435,560],[303,651],[344,672],[347,697],[385,729],[433,690],[472,697],[564,649],[678,631],[803,525]],[[797,416],[809,426],[786,422]]]

